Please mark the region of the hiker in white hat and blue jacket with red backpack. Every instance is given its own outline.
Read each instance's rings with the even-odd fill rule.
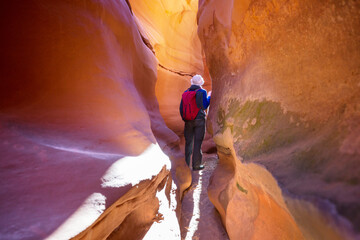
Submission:
[[[180,115],[185,122],[185,161],[190,166],[190,157],[194,149],[193,170],[204,169],[204,165],[201,164],[201,144],[205,135],[205,110],[210,104],[211,91],[208,95],[201,87],[203,84],[204,79],[200,75],[193,76],[191,86],[183,93],[180,102]]]

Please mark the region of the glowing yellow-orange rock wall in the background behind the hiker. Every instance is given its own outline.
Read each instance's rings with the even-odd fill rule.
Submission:
[[[130,0],[140,31],[158,60],[156,96],[167,126],[182,134],[179,115],[181,94],[190,86],[191,76],[201,74],[204,88],[211,82],[203,67],[197,35],[197,0]]]

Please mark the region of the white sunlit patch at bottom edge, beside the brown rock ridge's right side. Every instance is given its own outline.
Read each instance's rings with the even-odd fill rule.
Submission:
[[[167,183],[166,183],[167,184]],[[170,191],[170,203],[165,195],[166,186],[161,191],[156,193],[156,197],[159,199],[159,214],[162,214],[163,220],[154,222],[151,228],[146,233],[143,240],[154,240],[154,239],[180,239],[180,226],[176,217],[176,185],[174,181],[171,184],[172,188]]]

